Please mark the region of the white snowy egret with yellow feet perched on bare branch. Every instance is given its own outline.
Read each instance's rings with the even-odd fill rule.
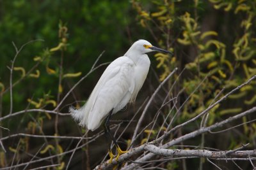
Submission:
[[[116,146],[118,152],[116,160],[126,151],[121,150],[113,134],[111,134],[109,119],[111,115],[122,110],[127,103],[134,103],[150,67],[150,60],[146,53],[153,51],[171,53],[152,46],[146,40],[136,41],[124,56],[118,57],[109,64],[86,104],[77,110],[70,108],[72,117],[79,121],[79,125],[91,131],[97,129],[106,119],[104,130],[106,136],[109,135]],[[108,149],[109,162],[111,162],[114,155],[110,145]]]

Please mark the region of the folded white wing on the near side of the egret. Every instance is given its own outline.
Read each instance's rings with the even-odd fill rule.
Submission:
[[[128,57],[119,57],[109,64],[87,103],[83,106],[80,125],[95,130],[109,111],[115,108],[129,90],[134,90],[132,79],[134,62]],[[120,108],[122,109],[122,108]]]

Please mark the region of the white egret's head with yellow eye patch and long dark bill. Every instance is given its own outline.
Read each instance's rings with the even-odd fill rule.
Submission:
[[[133,45],[130,48],[131,50],[134,50],[138,53],[148,53],[148,52],[163,52],[163,53],[171,53],[167,50],[163,50],[162,48],[158,48],[156,46],[153,46],[150,42],[144,40],[144,39],[140,39],[138,41],[136,41],[135,43],[133,43]]]

